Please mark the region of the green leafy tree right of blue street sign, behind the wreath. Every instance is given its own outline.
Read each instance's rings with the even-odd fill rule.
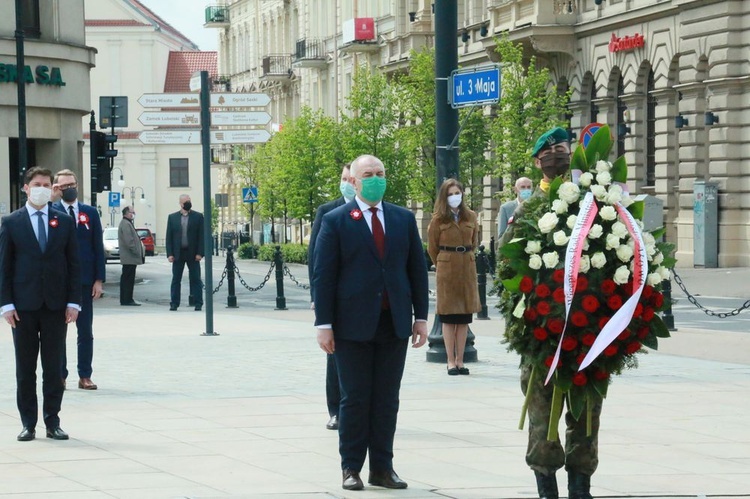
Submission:
[[[495,150],[494,172],[505,181],[505,197],[518,177],[529,177],[536,185],[541,172],[534,167],[531,150],[539,136],[555,126],[567,126],[565,115],[570,92],[560,93],[550,85],[550,71],[536,57],[524,59],[523,46],[507,35],[495,39],[502,67],[502,96],[491,125]]]

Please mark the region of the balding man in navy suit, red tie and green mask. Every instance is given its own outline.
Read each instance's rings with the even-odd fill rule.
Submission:
[[[382,202],[383,163],[360,156],[351,175],[356,198],[323,217],[313,269],[318,344],[339,372],[342,487],[364,488],[369,452],[369,483],[404,489],[393,437],[408,338],[427,339],[427,266],[414,215]]]

